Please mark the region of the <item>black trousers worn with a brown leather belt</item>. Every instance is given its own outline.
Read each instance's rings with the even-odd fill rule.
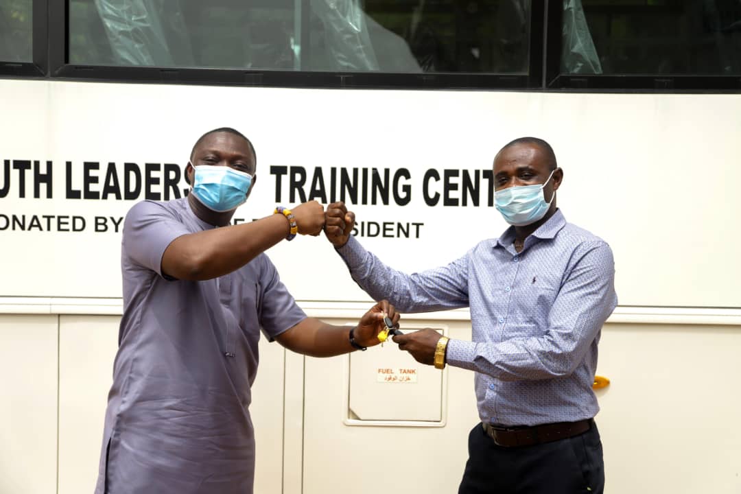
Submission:
[[[602,494],[605,467],[597,425],[571,438],[501,447],[476,424],[458,494]]]

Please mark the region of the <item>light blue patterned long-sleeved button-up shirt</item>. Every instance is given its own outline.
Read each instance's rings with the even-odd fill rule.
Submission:
[[[504,426],[597,415],[592,391],[602,324],[617,305],[608,244],[560,210],[514,249],[514,227],[447,266],[407,275],[355,238],[338,249],[353,279],[402,313],[471,308],[473,341],[448,364],[476,371],[482,421]]]

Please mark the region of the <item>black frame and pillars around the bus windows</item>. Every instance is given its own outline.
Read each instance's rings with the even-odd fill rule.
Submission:
[[[303,0],[307,1],[307,0]],[[0,61],[2,78],[252,87],[516,90],[546,93],[741,93],[741,74],[582,75],[560,71],[562,0],[531,2],[528,74],[379,73],[70,64],[69,0],[33,0],[33,61]],[[309,9],[302,9],[308,16]],[[308,19],[304,19],[308,21]],[[308,33],[302,33],[308,46]]]

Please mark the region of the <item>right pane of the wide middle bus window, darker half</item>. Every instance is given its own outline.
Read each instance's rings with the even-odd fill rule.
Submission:
[[[528,72],[529,0],[310,4],[310,70]]]

